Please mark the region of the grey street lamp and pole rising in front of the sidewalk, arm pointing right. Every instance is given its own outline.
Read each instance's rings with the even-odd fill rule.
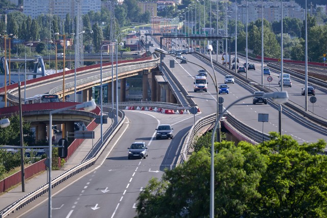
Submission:
[[[64,110],[68,110],[68,109],[73,109],[75,108],[76,110],[85,110],[85,111],[92,111],[96,108],[96,103],[94,102],[94,100],[92,101],[88,101],[88,102],[83,102],[81,104],[78,105],[73,105],[73,106],[69,106],[66,108],[60,108],[57,110],[53,110],[50,111],[49,113],[49,204],[48,204],[48,217],[51,218],[52,217],[52,200],[51,200],[51,189],[52,189],[52,185],[51,185],[51,169],[52,169],[52,114],[54,113],[59,113],[62,112]]]

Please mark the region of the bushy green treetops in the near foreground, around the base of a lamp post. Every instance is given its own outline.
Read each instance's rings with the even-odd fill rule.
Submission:
[[[259,146],[215,143],[215,217],[326,217],[326,142],[271,133]],[[137,198],[136,217],[208,217],[211,154],[194,152]]]

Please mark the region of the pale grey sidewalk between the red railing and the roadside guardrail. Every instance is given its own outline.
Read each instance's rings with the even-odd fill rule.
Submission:
[[[108,135],[110,130],[111,121],[110,119],[108,119],[108,124],[103,124],[103,140],[105,140],[105,136]],[[73,166],[76,166],[77,164],[90,158],[92,156],[92,144],[94,153],[97,151],[97,149],[101,146],[101,125],[99,124],[96,129],[94,129],[94,131],[95,139],[85,139],[61,169],[59,169],[58,171],[51,172],[52,179],[67,171],[67,169],[70,169]],[[0,195],[0,211],[7,208],[12,203],[28,195],[28,193],[34,191],[36,188],[46,183],[48,183],[48,171],[44,171],[37,176],[27,179],[25,181],[25,192],[21,191],[21,184],[19,184],[17,187],[9,190],[8,192],[2,193]]]

